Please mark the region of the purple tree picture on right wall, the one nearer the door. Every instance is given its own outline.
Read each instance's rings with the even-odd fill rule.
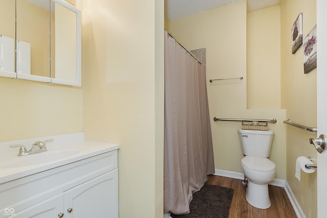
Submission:
[[[305,74],[317,67],[317,25],[303,40],[303,65]]]

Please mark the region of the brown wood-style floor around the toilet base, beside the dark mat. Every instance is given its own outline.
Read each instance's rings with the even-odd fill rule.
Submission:
[[[246,185],[242,180],[222,176],[209,175],[208,184],[219,185],[234,189],[233,199],[229,209],[229,218],[292,218],[297,217],[287,194],[282,187],[269,185],[271,206],[268,209],[259,209],[247,203],[245,199]]]

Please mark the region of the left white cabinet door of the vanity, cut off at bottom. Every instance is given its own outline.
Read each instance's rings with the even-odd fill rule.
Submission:
[[[15,208],[11,208],[15,209]],[[40,202],[32,207],[15,213],[10,217],[15,218],[58,218],[59,213],[63,213],[63,194],[52,197],[48,200]]]

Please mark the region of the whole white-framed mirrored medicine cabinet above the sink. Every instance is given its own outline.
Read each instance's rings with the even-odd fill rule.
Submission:
[[[80,11],[61,0],[0,0],[0,76],[81,86]]]

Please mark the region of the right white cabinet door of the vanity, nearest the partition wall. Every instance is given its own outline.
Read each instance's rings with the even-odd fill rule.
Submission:
[[[118,169],[65,191],[64,210],[66,218],[118,217]]]

